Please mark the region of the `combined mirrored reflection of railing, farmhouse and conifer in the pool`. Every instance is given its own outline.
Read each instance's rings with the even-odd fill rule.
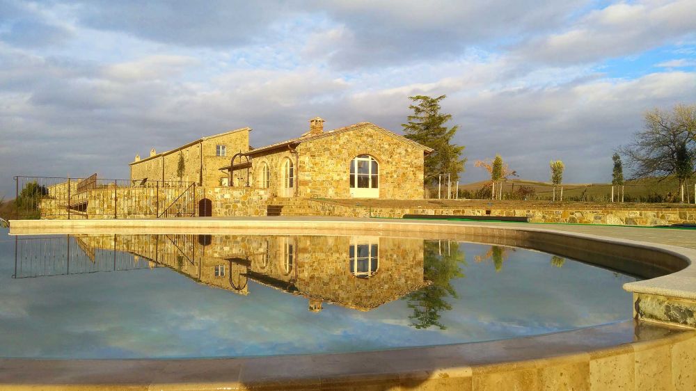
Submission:
[[[442,248],[448,250],[443,255]],[[424,262],[425,260],[425,262]],[[368,311],[409,296],[413,326],[437,325],[463,276],[456,243],[422,239],[268,235],[90,235],[18,239],[15,278],[166,266],[211,287],[249,294],[249,282]]]

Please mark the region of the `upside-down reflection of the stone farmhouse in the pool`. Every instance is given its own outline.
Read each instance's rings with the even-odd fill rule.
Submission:
[[[116,240],[116,243],[114,243]],[[426,285],[422,239],[335,236],[82,236],[183,273],[197,282],[249,293],[249,282],[322,303],[371,310]]]

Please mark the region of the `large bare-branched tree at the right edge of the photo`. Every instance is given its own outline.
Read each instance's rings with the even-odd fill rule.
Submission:
[[[691,109],[689,109],[691,107]],[[674,106],[672,112],[645,113],[644,129],[619,150],[628,158],[631,179],[673,176],[679,187],[694,173],[696,139],[692,134],[696,106]]]

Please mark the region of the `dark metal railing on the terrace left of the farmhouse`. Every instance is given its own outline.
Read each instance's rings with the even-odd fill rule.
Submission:
[[[16,176],[15,219],[196,216],[196,184],[147,179]]]

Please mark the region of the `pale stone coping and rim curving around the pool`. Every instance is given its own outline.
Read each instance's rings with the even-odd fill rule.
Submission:
[[[623,228],[619,228],[623,229]],[[583,253],[600,266],[675,273],[632,282],[635,298],[696,299],[696,249],[562,232],[553,226],[366,218],[182,218],[173,220],[11,221],[10,234],[246,233],[356,230],[428,237],[452,234],[491,244]],[[377,231],[377,232],[375,232]],[[696,232],[695,232],[696,234]],[[612,253],[623,261],[603,259]],[[610,254],[610,255],[612,255]],[[596,257],[596,258],[595,258]],[[630,261],[629,261],[630,260]],[[612,263],[613,262],[613,263]],[[630,265],[628,265],[630,266]],[[632,266],[633,267],[633,266]],[[680,270],[681,269],[681,270]],[[678,271],[677,271],[678,270]],[[647,295],[647,296],[646,296]],[[637,301],[639,303],[640,301]],[[647,300],[644,302],[648,303]],[[696,330],[674,319],[651,317],[636,305],[638,319],[604,326],[428,348],[366,353],[198,360],[0,360],[3,388],[131,389],[696,389]],[[647,320],[647,321],[646,321]],[[677,319],[679,320],[679,319]],[[662,323],[654,323],[654,321]],[[671,325],[670,325],[671,323]]]

